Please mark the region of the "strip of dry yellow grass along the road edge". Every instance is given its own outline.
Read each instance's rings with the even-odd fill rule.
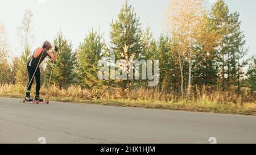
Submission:
[[[26,88],[21,85],[0,86],[0,96],[22,98],[24,89]],[[191,99],[186,99],[180,98],[174,93],[160,95],[158,92],[144,89],[137,91],[122,89],[86,90],[79,86],[71,86],[67,90],[60,90],[53,85],[49,90],[42,87],[41,96],[49,100],[64,102],[256,116],[255,95],[251,97],[243,93],[243,95],[238,96],[232,92],[209,93],[205,90],[197,90]],[[48,97],[46,97],[47,93]],[[34,92],[31,92],[31,94],[34,94]]]

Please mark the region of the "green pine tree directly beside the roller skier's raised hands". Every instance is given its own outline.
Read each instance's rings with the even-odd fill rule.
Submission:
[[[60,89],[67,89],[71,83],[76,81],[76,53],[72,51],[71,43],[65,39],[62,32],[57,33],[53,45],[57,45],[59,51],[57,52],[57,61],[53,66],[51,83],[56,83]],[[49,79],[52,69],[52,61],[47,61],[46,69],[47,79]]]

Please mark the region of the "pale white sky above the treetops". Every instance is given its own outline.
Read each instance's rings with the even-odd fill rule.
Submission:
[[[205,7],[210,9],[214,0],[205,0]],[[169,0],[128,0],[140,18],[142,28],[151,27],[154,37],[158,38],[164,28],[164,11]],[[255,0],[225,0],[230,12],[240,12],[241,28],[245,33],[246,48],[250,57],[256,54],[256,6]],[[110,23],[125,4],[125,0],[0,0],[0,22],[6,25],[7,39],[12,56],[18,56],[19,42],[17,27],[20,26],[23,13],[31,9],[34,14],[32,27],[35,33],[32,49],[40,47],[44,40],[52,41],[61,31],[77,49],[88,31],[100,30],[109,41]]]

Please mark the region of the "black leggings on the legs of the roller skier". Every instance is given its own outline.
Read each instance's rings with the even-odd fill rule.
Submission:
[[[34,78],[32,79],[33,74],[35,73],[35,79],[36,79],[36,95],[40,95],[40,88],[41,88],[41,80],[40,80],[40,68],[35,68],[27,65],[27,73],[28,73],[28,85],[27,85],[27,93],[31,90],[32,83],[34,82]],[[32,81],[31,81],[32,79]],[[29,83],[31,81],[31,83]],[[30,84],[30,85],[29,85]]]

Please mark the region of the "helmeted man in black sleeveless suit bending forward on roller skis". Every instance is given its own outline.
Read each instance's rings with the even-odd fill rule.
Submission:
[[[52,61],[57,60],[57,51],[58,48],[55,47],[54,49],[54,55],[50,52],[52,48],[51,43],[49,41],[44,41],[44,44],[42,47],[36,48],[34,51],[32,57],[27,62],[27,73],[28,73],[28,85],[27,85],[27,91],[26,91],[26,97],[25,100],[32,101],[33,99],[30,97],[30,90],[32,83],[34,82],[34,77],[36,79],[36,95],[35,100],[39,100],[40,102],[43,101],[43,99],[40,98],[40,87],[41,87],[41,80],[40,80],[40,68],[39,65],[42,63],[42,61],[49,56]],[[34,76],[34,77],[33,77]]]

